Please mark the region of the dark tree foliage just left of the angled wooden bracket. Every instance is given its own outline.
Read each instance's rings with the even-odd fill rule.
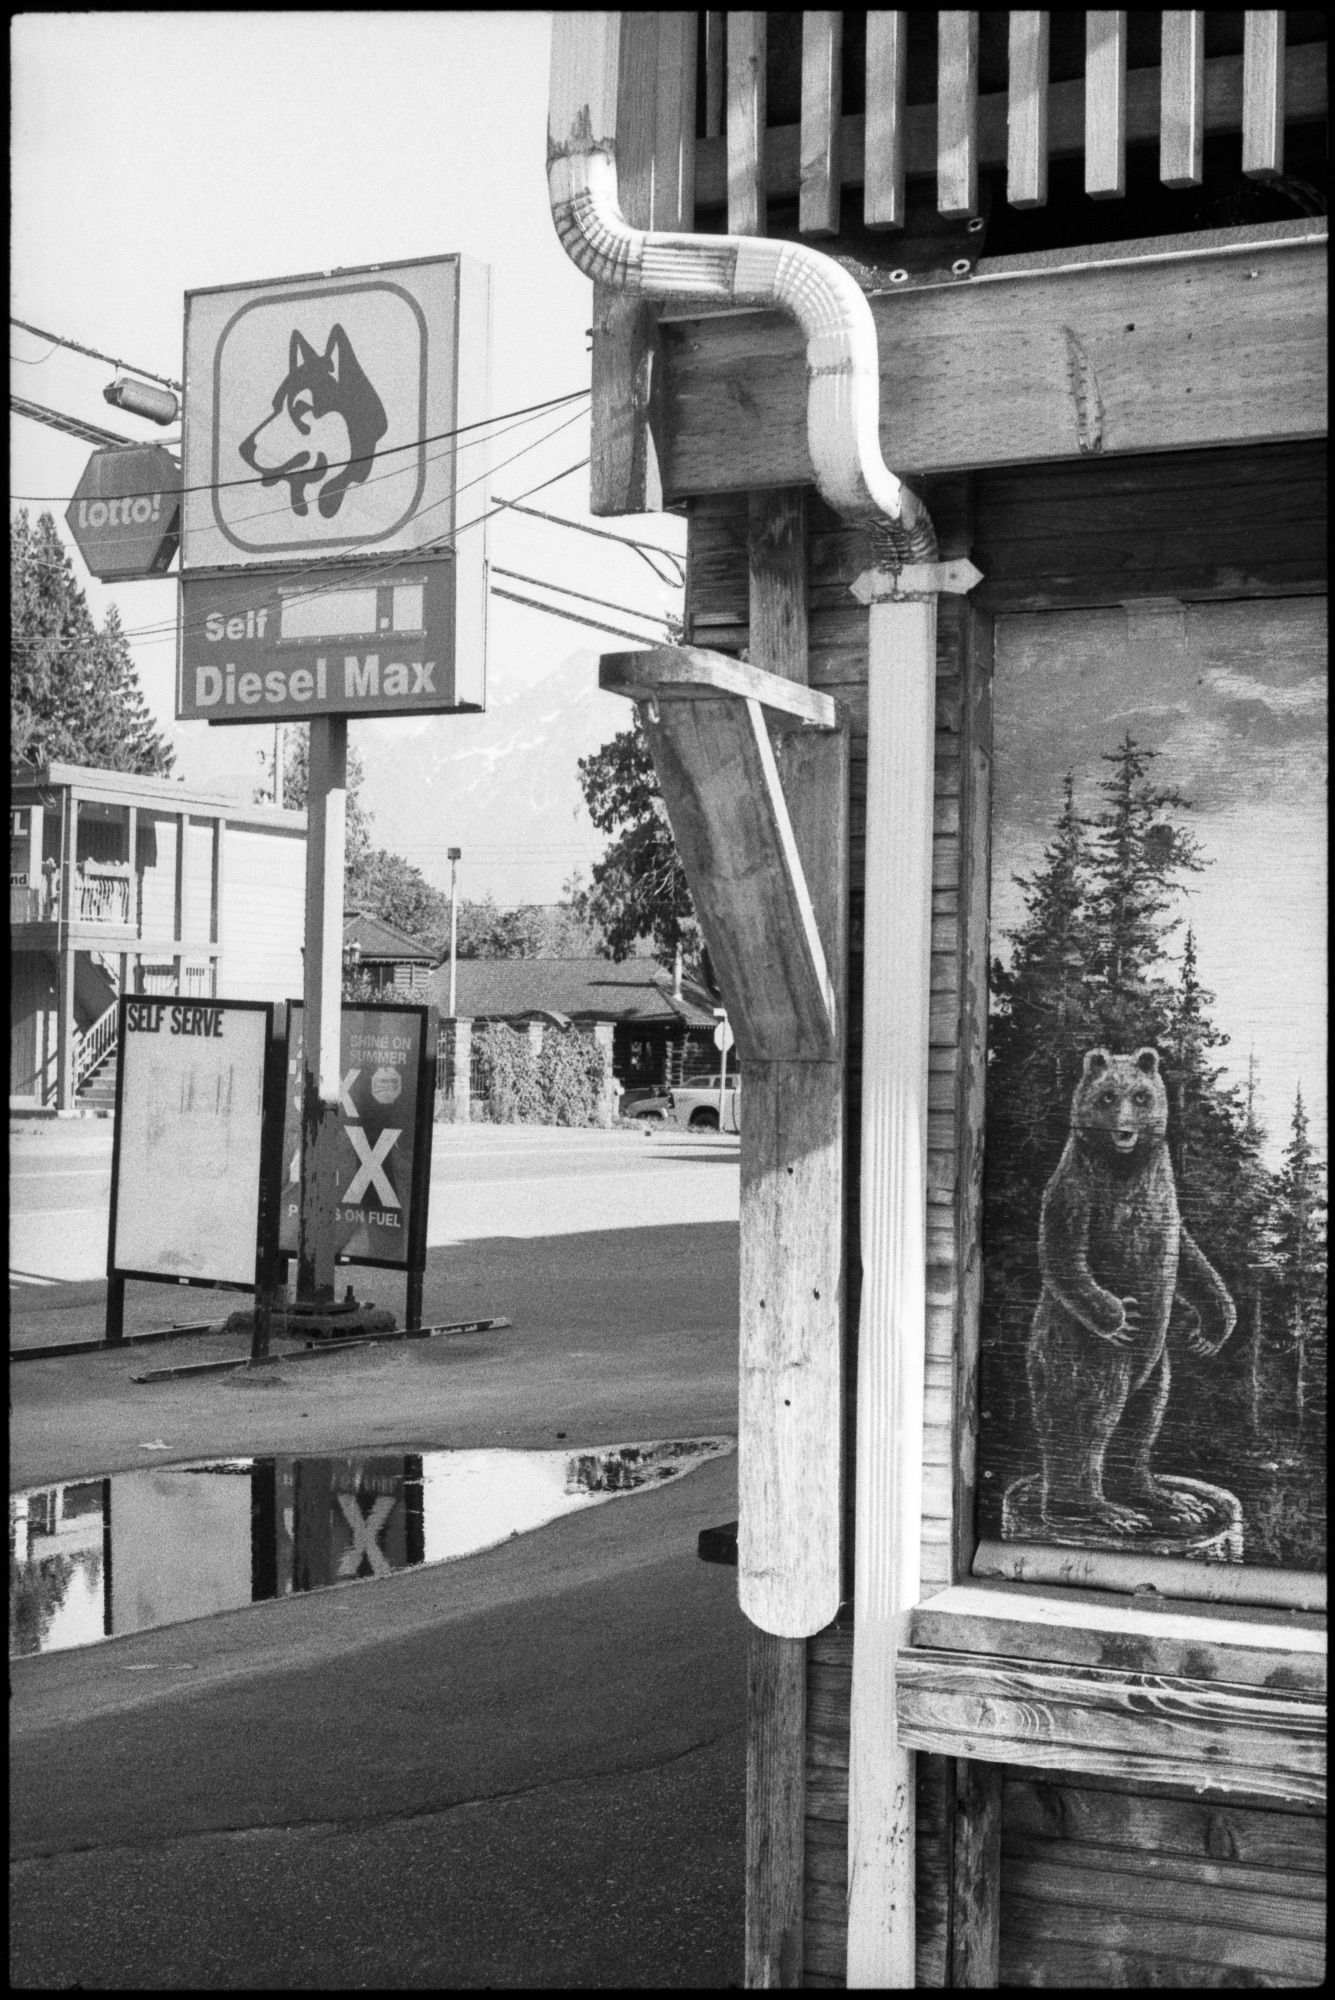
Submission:
[[[588,896],[608,954],[630,958],[640,938],[652,938],[660,958],[671,960],[681,948],[685,960],[695,964],[699,924],[650,746],[638,724],[580,758],[580,788],[598,832],[612,834],[608,852],[594,862]]]

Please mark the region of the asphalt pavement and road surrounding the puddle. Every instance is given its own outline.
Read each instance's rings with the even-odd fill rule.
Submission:
[[[735,1434],[735,1142],[442,1130],[428,1314],[512,1328],[156,1384],[132,1380],[146,1352],[220,1336],[30,1360],[12,1484],[144,1466],[150,1442]],[[12,1286],[28,1340],[98,1330],[102,1284],[66,1274],[80,1230],[106,1242],[108,1162],[72,1138],[14,1146],[20,1226],[74,1210],[54,1250],[12,1252],[62,1272]],[[158,1324],[180,1302],[138,1292]],[[462,1562],[12,1662],[10,1980],[739,1984],[743,1620],[735,1572],[695,1558],[735,1510],[727,1456]]]

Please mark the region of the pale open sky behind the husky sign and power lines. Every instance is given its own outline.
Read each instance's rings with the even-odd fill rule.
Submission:
[[[548,208],[548,14],[18,14],[10,58],[18,318],[182,378],[188,290],[462,252],[492,268],[492,412],[588,390],[592,284]],[[110,408],[106,362],[10,326],[10,364],[28,402],[136,440],[180,434]],[[496,436],[494,496],[520,498],[588,458],[586,410]],[[10,436],[10,512],[48,508],[74,548],[64,508],[92,446],[22,416]],[[594,522],[588,478],[570,472],[532,504],[683,552],[677,516]],[[548,522],[502,512],[488,558],[636,612],[679,612],[679,590],[634,550]],[[98,620],[120,608],[174,774],[250,798],[272,728],[174,718],[176,574],[104,586],[78,554],[74,568]],[[662,630],[586,610],[646,642]],[[350,726],[376,838],[442,888],[446,850],[460,846],[460,894],[502,904],[552,902],[576,868],[588,878],[606,840],[574,762],[630,726],[630,704],[598,690],[598,654],[628,644],[492,596],[486,716]],[[560,768],[540,784],[544,740],[560,744]]]

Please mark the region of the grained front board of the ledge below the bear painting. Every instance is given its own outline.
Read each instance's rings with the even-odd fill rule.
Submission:
[[[1325,1802],[1325,1704],[1273,1688],[907,1646],[895,1710],[915,1750]]]

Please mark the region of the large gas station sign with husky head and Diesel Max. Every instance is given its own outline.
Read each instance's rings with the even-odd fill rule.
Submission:
[[[488,296],[460,256],[186,296],[180,720],[482,708]]]

